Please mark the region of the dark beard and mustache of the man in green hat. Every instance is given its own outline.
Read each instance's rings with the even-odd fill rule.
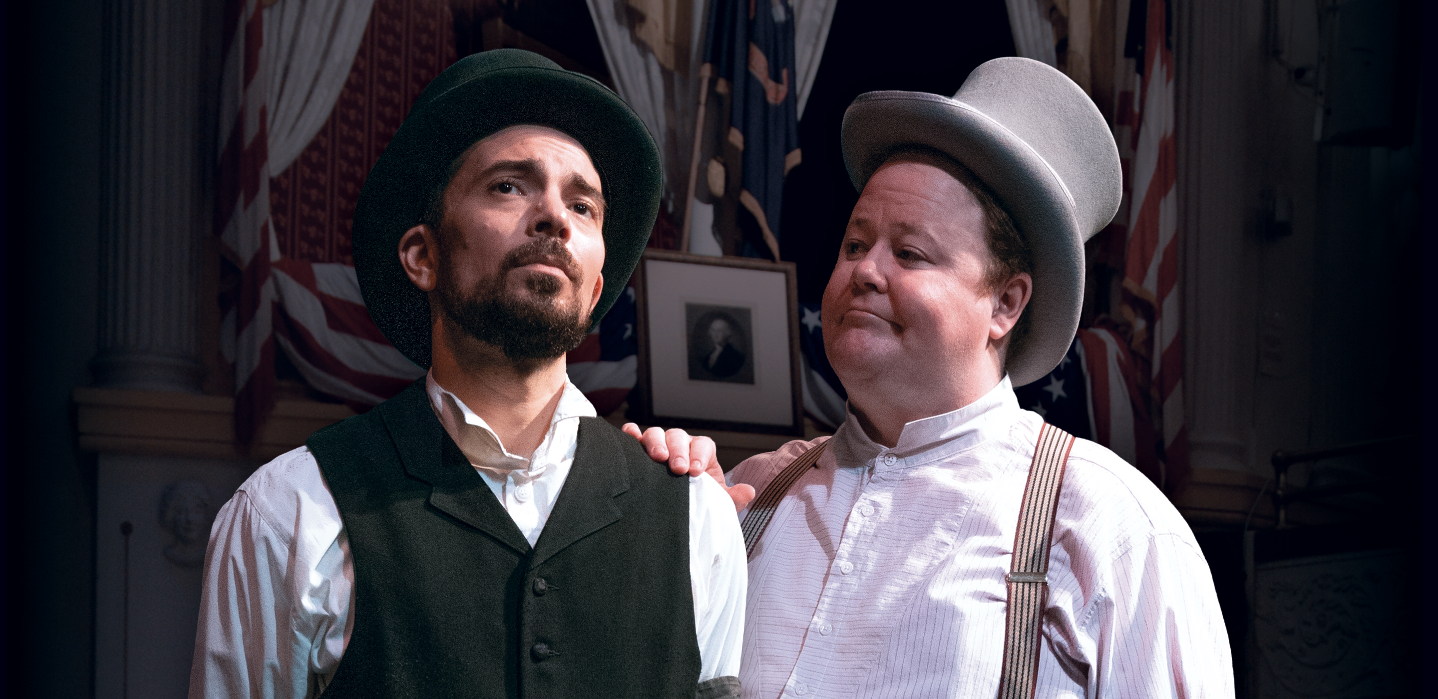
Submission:
[[[443,236],[443,233],[441,233]],[[439,292],[440,312],[469,337],[499,347],[510,360],[554,360],[580,347],[590,334],[590,314],[580,298],[580,266],[564,243],[541,237],[515,247],[499,265],[499,273],[464,293],[454,283],[450,256],[443,255]],[[525,286],[539,298],[505,292],[505,276],[525,265],[544,262],[565,270],[574,285],[569,309],[555,305],[562,285],[548,275],[535,275]]]

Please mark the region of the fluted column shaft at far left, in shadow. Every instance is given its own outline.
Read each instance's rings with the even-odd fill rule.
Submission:
[[[105,7],[96,385],[198,391],[203,3]]]

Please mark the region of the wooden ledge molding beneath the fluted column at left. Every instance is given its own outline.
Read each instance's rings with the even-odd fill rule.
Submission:
[[[279,400],[255,444],[234,440],[234,398],[187,393],[75,388],[79,446],[86,452],[270,460],[354,410],[334,403]]]

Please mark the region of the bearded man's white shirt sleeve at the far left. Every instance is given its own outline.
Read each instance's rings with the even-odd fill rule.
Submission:
[[[348,554],[308,450],[250,476],[210,529],[191,699],[316,696],[349,631]]]

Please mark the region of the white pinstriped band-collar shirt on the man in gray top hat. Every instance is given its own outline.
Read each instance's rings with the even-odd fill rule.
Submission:
[[[1041,424],[1007,377],[963,408],[906,424],[893,449],[850,416],[749,562],[743,696],[997,696],[1004,574]],[[762,489],[817,443],[748,459],[731,480]],[[1035,696],[1234,696],[1192,531],[1093,442],[1068,457],[1048,580]]]

